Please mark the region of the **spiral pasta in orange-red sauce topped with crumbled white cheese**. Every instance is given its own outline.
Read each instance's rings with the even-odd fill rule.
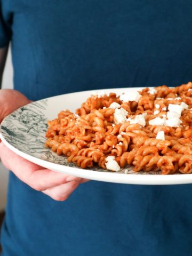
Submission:
[[[91,95],[48,121],[46,147],[82,168],[192,173],[192,83]]]

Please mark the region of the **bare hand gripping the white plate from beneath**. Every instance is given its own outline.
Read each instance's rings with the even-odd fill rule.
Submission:
[[[30,103],[15,90],[0,90],[0,122],[15,109]],[[31,188],[42,191],[57,201],[65,201],[80,183],[88,180],[54,172],[31,163],[0,142],[0,158],[4,166]]]

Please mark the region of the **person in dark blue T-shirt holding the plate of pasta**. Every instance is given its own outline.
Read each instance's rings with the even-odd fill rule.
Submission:
[[[188,0],[2,0],[1,70],[11,42],[15,90],[0,91],[0,119],[62,93],[191,81],[191,9]],[[2,142],[0,157],[11,170],[3,256],[191,255],[191,185],[85,182]]]

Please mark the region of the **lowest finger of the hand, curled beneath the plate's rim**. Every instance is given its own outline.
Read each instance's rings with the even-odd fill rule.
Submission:
[[[50,196],[56,201],[65,201],[71,193],[79,186],[81,179],[70,181],[66,184],[59,185],[54,188],[49,188],[43,191],[47,196]]]

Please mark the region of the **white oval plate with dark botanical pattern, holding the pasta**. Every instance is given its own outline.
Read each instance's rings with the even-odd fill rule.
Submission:
[[[106,89],[105,92],[139,91],[142,88]],[[93,93],[103,90],[84,91],[63,94],[30,103],[15,110],[1,123],[0,138],[14,153],[28,161],[41,165],[53,171],[75,175],[77,177],[138,185],[172,185],[192,183],[192,174],[161,175],[160,172],[133,172],[132,167],[121,169],[119,172],[100,169],[81,169],[74,163],[68,163],[67,157],[58,156],[51,149],[45,148],[45,132],[47,120],[57,117],[58,113],[68,108],[75,111]]]

